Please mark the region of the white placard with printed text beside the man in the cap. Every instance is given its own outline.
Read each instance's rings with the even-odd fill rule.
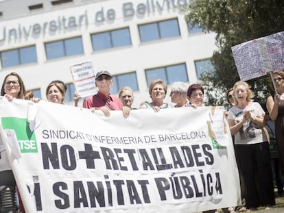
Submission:
[[[70,70],[76,92],[78,92],[80,97],[88,97],[97,92],[92,62],[74,64],[70,66]]]

